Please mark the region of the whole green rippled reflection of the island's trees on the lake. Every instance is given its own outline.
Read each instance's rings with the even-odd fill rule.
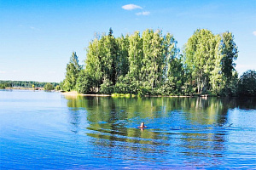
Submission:
[[[170,156],[181,155],[210,158],[210,161],[183,160],[193,167],[221,163],[217,158],[226,150],[227,128],[231,126],[229,110],[255,109],[255,105],[249,105],[255,103],[254,99],[241,103],[237,99],[218,98],[66,96],[66,99],[74,133],[81,122],[79,111],[86,111],[84,121],[89,124],[84,127],[86,135],[96,147],[107,149],[97,150],[96,156],[117,157],[119,150],[127,160],[166,161]],[[140,122],[145,122],[148,128],[137,128]],[[150,159],[152,154],[160,154],[160,158]]]

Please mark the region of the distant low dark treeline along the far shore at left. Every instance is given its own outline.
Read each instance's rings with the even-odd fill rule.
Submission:
[[[60,83],[58,82],[34,82],[34,81],[3,81],[0,80],[0,88],[44,88],[44,86],[50,83],[53,87],[56,87]]]

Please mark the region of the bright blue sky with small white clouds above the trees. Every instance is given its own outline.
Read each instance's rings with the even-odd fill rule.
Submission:
[[[61,82],[73,51],[84,64],[95,33],[161,29],[179,48],[197,28],[231,31],[236,70],[256,70],[256,0],[0,0],[0,80]]]

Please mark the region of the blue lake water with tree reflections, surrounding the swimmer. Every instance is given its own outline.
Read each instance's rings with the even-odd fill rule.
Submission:
[[[0,135],[0,169],[255,169],[256,99],[1,90]]]

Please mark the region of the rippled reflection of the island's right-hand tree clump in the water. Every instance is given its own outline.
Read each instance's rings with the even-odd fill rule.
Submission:
[[[186,119],[194,127],[182,133],[182,147],[187,156],[211,158],[207,164],[218,165],[217,157],[222,157],[225,150],[224,127],[227,125],[227,114],[233,108],[232,102],[218,98],[189,99],[189,105],[183,108],[188,112]],[[201,164],[195,160],[191,164]]]

